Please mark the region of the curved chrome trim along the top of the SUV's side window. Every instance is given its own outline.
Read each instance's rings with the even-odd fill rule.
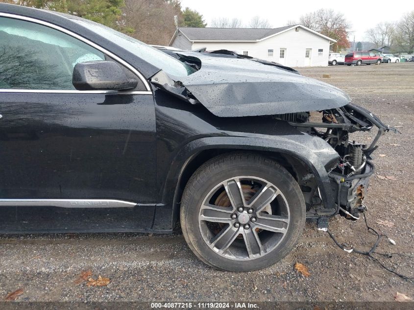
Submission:
[[[38,20],[38,19],[34,19],[34,18],[31,18],[31,17],[21,16],[21,15],[15,15],[15,14],[10,14],[10,13],[3,13],[3,12],[0,12],[0,17],[14,18],[14,19],[17,19],[17,20],[32,22],[32,23],[35,23],[35,24],[41,24],[41,25],[44,25],[44,26],[47,26],[47,27],[56,29],[58,31],[61,31],[63,33],[66,33],[66,34],[70,35],[71,37],[76,38],[76,39],[78,39],[78,40],[80,40],[80,41],[82,41],[82,42],[90,45],[93,48],[96,48],[97,50],[99,50],[102,53],[108,55],[109,57],[115,59],[116,61],[118,61],[119,63],[121,63],[123,66],[125,66],[126,68],[128,68],[130,71],[132,71],[134,74],[136,74],[139,77],[139,79],[144,83],[144,86],[145,86],[147,92],[150,92],[152,94],[151,88],[149,87],[149,84],[148,84],[148,81],[141,74],[141,72],[139,72],[138,70],[136,70],[134,67],[132,67],[130,64],[128,64],[126,61],[124,61],[119,56],[111,53],[110,51],[106,50],[105,48],[100,47],[96,43],[94,43],[94,42],[92,42],[92,41],[90,41],[90,40],[88,40],[88,39],[86,39],[86,38],[84,38],[84,37],[82,37],[82,36],[80,36],[80,35],[72,32],[72,31],[70,31],[68,29],[65,29],[63,27],[60,27],[60,26],[55,25],[55,24],[50,24],[48,22],[41,21],[41,20]],[[83,91],[78,91],[78,92],[84,93]]]

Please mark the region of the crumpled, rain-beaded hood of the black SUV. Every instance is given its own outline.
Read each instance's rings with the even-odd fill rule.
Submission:
[[[246,59],[197,58],[200,70],[171,78],[219,117],[320,111],[351,101],[339,88],[277,67]]]

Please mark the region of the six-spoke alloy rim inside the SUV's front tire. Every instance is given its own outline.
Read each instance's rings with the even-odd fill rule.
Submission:
[[[283,193],[252,176],[219,183],[204,198],[198,215],[207,245],[232,260],[253,260],[270,253],[285,237],[289,223]]]

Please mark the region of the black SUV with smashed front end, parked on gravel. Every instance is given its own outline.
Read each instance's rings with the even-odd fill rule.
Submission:
[[[287,255],[306,218],[364,211],[388,126],[277,64],[173,56],[0,4],[1,233],[171,233],[179,218],[203,262],[245,271]],[[348,141],[374,126],[370,145]]]

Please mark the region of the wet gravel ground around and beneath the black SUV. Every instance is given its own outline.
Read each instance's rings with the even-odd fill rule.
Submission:
[[[392,245],[384,239],[378,251],[406,255],[380,260],[414,277],[414,63],[299,70],[345,90],[355,103],[402,132],[380,140],[374,153],[378,170],[365,202],[369,224],[396,241]],[[332,76],[322,79],[322,73]],[[368,143],[373,136],[355,140]],[[394,226],[377,224],[379,220]],[[330,229],[341,242],[361,249],[375,241],[363,220],[337,216]],[[311,275],[299,274],[295,262],[305,264]],[[82,270],[111,282],[103,287],[76,284]],[[0,296],[20,288],[20,301],[392,301],[397,291],[414,299],[413,283],[365,256],[340,250],[312,223],[282,262],[248,273],[220,272],[201,263],[179,228],[170,236],[0,235]]]

